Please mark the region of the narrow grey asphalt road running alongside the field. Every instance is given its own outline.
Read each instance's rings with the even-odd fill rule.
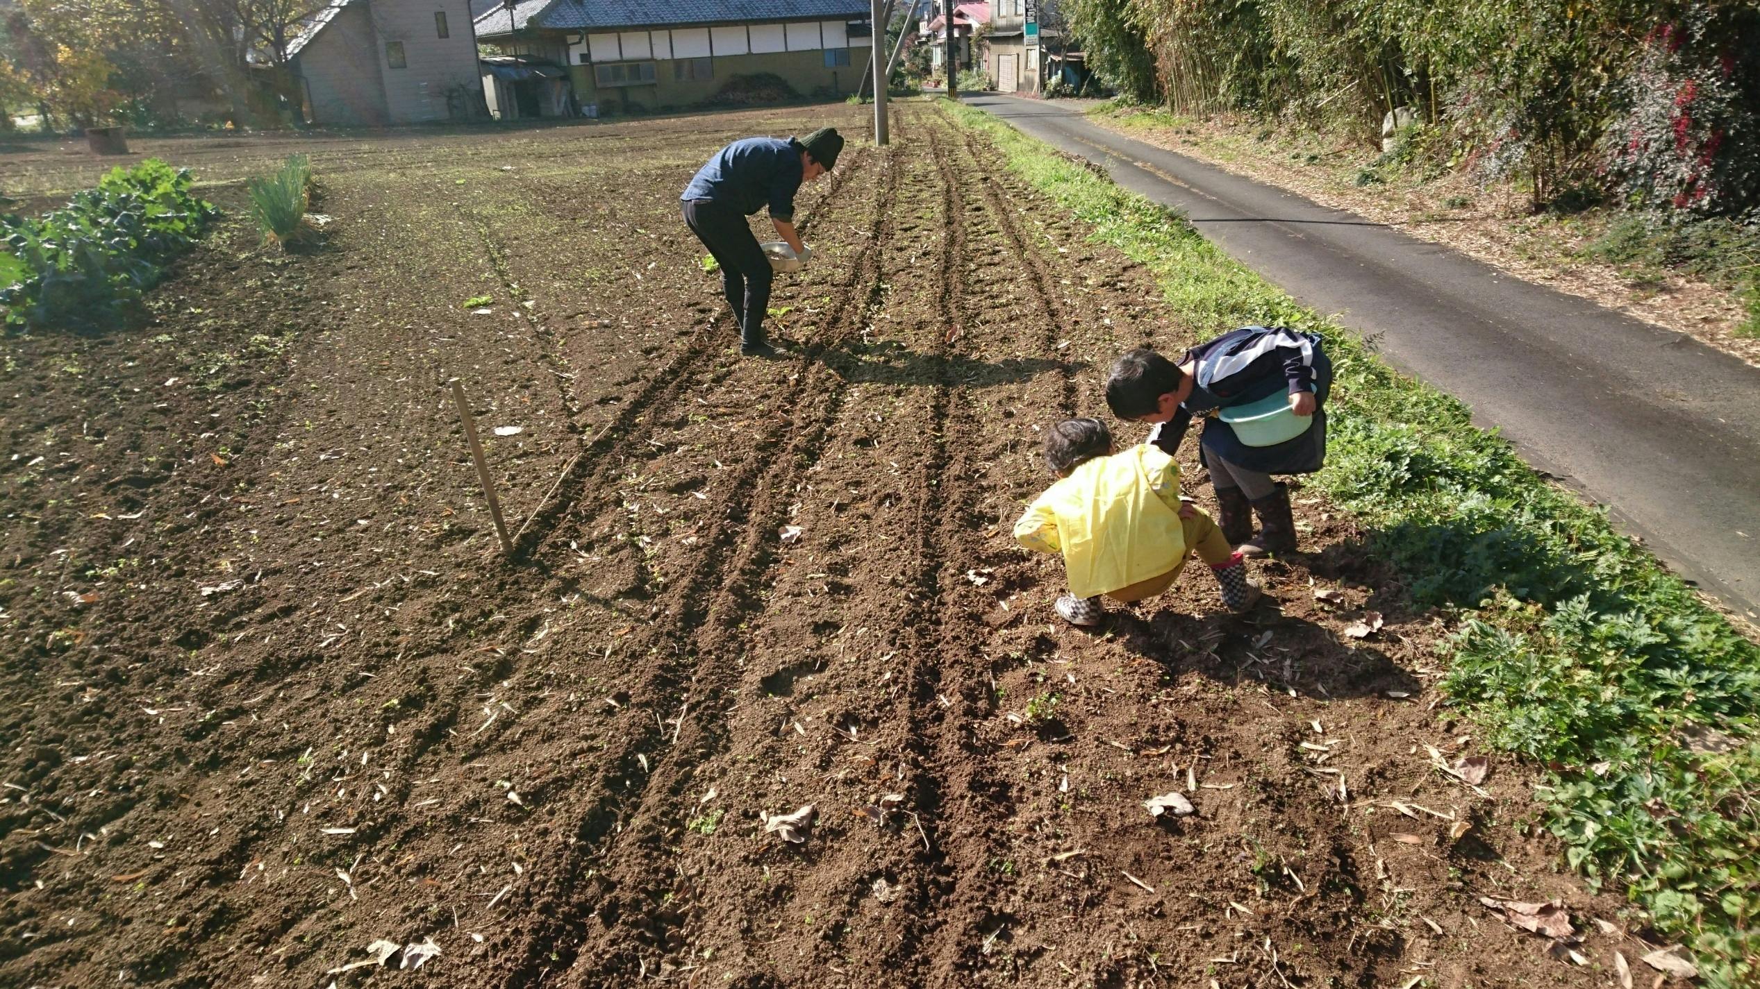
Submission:
[[[1501,428],[1528,463],[1607,505],[1679,574],[1749,618],[1760,611],[1760,370],[1077,109],[964,102],[1184,211],[1243,264]]]

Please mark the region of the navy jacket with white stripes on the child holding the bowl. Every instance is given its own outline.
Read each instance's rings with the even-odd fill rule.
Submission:
[[[1199,459],[1209,466],[1209,458],[1257,470],[1260,473],[1313,473],[1325,463],[1325,399],[1332,391],[1332,361],[1320,348],[1320,338],[1294,329],[1267,329],[1250,326],[1225,333],[1207,343],[1199,343],[1174,361],[1197,364],[1192,394],[1179,403],[1170,422],[1149,435],[1149,442],[1169,456],[1179,452],[1179,442],[1192,428],[1192,419],[1207,415],[1199,438]],[[1220,408],[1251,405],[1278,392],[1315,392],[1313,426],[1306,433],[1274,447],[1248,447],[1234,428],[1216,419]]]

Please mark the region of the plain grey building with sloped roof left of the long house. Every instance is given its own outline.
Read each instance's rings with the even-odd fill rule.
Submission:
[[[334,0],[289,53],[310,123],[482,118],[470,0]]]

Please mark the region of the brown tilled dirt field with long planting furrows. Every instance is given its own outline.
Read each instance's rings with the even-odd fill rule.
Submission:
[[[678,190],[862,113],[317,141],[327,250],[234,220],[151,326],[0,341],[0,984],[1612,984],[1621,905],[1521,767],[1431,766],[1477,751],[1447,630],[1315,498],[1278,604],[1195,567],[1056,619],[1008,535],[1040,429],[1188,338],[986,144],[928,104],[852,143],[778,280],[796,357],[734,355]],[[234,216],[294,144],[143,143]],[[56,155],[0,185],[97,172]],[[1563,899],[1586,964],[1480,896]]]

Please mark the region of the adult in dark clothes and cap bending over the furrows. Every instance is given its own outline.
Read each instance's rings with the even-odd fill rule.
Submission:
[[[685,187],[685,225],[722,266],[722,290],[739,322],[739,352],[774,357],[764,333],[769,306],[771,264],[752,236],[746,216],[769,206],[776,236],[806,257],[801,234],[794,232],[794,194],[838,164],[843,137],[820,127],[806,137],[746,137],[722,148]]]

